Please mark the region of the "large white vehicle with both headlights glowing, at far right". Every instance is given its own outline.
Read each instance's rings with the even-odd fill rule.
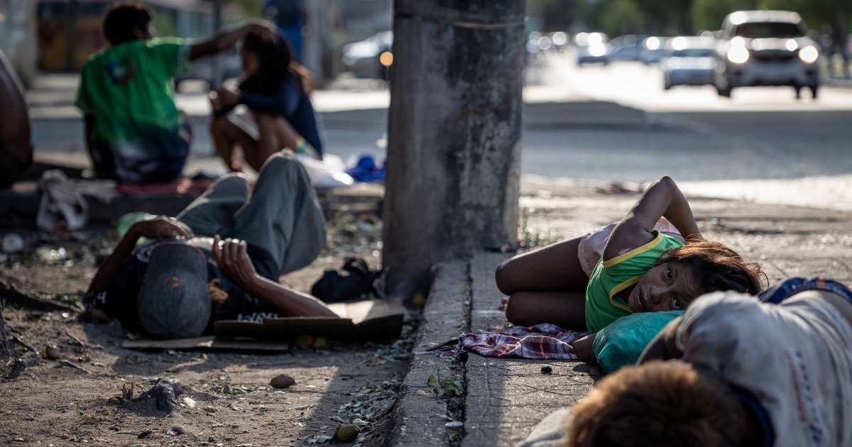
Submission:
[[[817,43],[790,11],[737,11],[722,22],[717,43],[715,84],[720,96],[734,87],[789,85],[808,87],[816,98],[820,84]]]

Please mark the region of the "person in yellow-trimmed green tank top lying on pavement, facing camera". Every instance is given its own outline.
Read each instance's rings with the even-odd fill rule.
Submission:
[[[617,225],[517,255],[498,266],[496,279],[510,296],[512,324],[597,332],[634,312],[684,310],[715,290],[756,294],[760,274],[757,264],[701,237],[689,203],[665,176]],[[593,341],[575,342],[575,352],[590,358]]]

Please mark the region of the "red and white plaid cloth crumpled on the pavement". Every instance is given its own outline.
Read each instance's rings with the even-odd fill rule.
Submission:
[[[539,360],[576,360],[574,341],[589,335],[585,330],[564,330],[555,324],[505,326],[463,334],[458,342],[437,352],[439,357],[454,358],[472,351],[484,357],[521,357]]]

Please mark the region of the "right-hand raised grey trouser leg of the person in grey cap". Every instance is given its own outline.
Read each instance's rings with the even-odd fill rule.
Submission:
[[[307,266],[325,245],[325,219],[308,173],[289,151],[260,169],[248,203],[237,212],[233,237],[271,255],[279,273]]]

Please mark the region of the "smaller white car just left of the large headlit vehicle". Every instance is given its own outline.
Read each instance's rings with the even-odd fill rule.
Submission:
[[[705,37],[672,37],[665,44],[659,61],[663,69],[663,88],[675,85],[711,85],[716,77],[716,52],[713,39]]]

